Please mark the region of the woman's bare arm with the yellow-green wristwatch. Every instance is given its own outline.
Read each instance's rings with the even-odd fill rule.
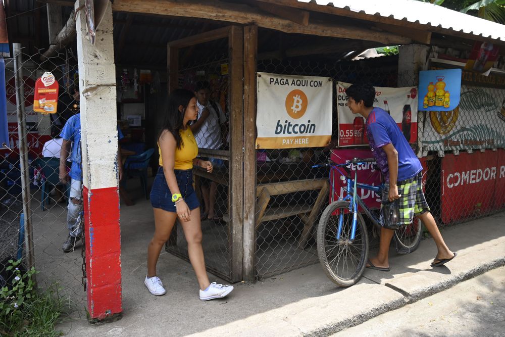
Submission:
[[[165,130],[158,139],[158,143],[161,149],[161,158],[163,160],[163,174],[165,174],[165,180],[167,181],[168,188],[172,194],[180,194],[179,185],[177,185],[177,178],[175,177],[174,165],[175,165],[175,148],[177,147],[177,142],[169,131]],[[184,199],[176,202],[177,215],[183,221],[189,220],[189,207],[186,205]]]

